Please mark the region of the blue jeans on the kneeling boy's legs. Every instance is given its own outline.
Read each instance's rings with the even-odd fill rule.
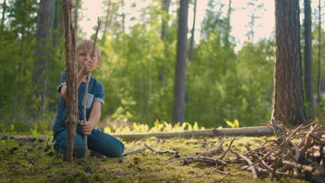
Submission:
[[[67,155],[67,130],[55,134],[54,140],[54,149]],[[88,148],[106,157],[120,157],[124,151],[124,144],[112,135],[94,128],[92,134],[88,135]],[[85,144],[80,128],[74,137],[74,154],[77,157],[85,156]]]

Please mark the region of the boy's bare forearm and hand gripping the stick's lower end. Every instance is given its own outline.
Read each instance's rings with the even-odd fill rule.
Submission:
[[[92,103],[92,110],[90,111],[88,123],[83,123],[83,121],[81,121],[81,126],[83,127],[83,134],[90,135],[92,133],[92,129],[95,128],[100,118],[101,103],[99,101],[94,101],[94,103]]]

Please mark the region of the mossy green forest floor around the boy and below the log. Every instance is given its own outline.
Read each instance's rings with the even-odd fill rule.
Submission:
[[[274,137],[236,137],[232,150],[244,153],[245,146],[257,148]],[[222,144],[226,150],[233,137],[149,137],[124,141],[126,150],[137,150],[149,144],[156,150],[176,150],[179,157],[190,157]],[[88,152],[90,153],[90,152]],[[90,153],[91,154],[91,153]],[[219,157],[222,151],[213,157]],[[241,171],[241,164],[213,166],[203,162],[167,163],[172,154],[158,153],[147,148],[142,153],[108,158],[89,155],[88,159],[74,158],[73,163],[53,150],[53,144],[40,141],[0,139],[0,182],[254,182],[252,173]],[[235,159],[228,153],[224,160]],[[228,173],[228,175],[227,175]],[[278,177],[275,182],[306,182]],[[259,175],[256,182],[272,182]]]

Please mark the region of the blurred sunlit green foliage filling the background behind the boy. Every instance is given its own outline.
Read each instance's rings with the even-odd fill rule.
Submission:
[[[46,40],[53,42],[48,48],[52,55],[46,72],[48,110],[37,105],[40,98],[35,96],[36,87],[32,86],[38,3],[36,0],[7,1],[6,21],[0,30],[0,55],[10,55],[0,58],[0,130],[6,133],[12,132],[12,125],[13,132],[35,130],[33,124],[37,123],[38,133],[49,134],[60,97],[56,87],[65,70],[65,37],[61,30],[52,30],[55,36]],[[222,128],[227,126],[224,119],[238,119],[241,126],[268,123],[272,111],[274,40],[245,42],[240,51],[235,51],[234,37],[228,37],[230,44],[225,40],[231,35],[224,11],[228,5],[223,1],[208,1],[201,40],[194,46],[194,61],[187,66],[185,120],[188,122],[172,126],[177,17],[171,15],[177,13],[170,10],[167,15],[160,0],[150,1],[145,7],[138,3],[141,2],[135,2],[133,8],[139,16],[132,17],[130,21],[134,24],[123,32],[122,16],[117,15],[121,4],[112,2],[110,28],[98,42],[103,60],[93,76],[105,88],[101,118],[111,116],[114,121],[131,124],[113,132],[176,132],[200,129],[199,125]],[[162,19],[168,21],[165,42],[160,38]],[[313,24],[314,39],[317,26]],[[325,37],[324,29],[322,37]],[[78,33],[78,38],[89,37]],[[322,49],[324,43],[323,39]],[[314,63],[318,44],[313,41]],[[324,73],[324,60],[322,54],[321,73]],[[313,73],[317,73],[314,65]],[[323,85],[324,82],[322,88]],[[319,119],[325,116],[322,109],[324,101],[319,106]],[[38,110],[45,110],[44,114],[35,116]],[[112,129],[106,128],[106,132]]]

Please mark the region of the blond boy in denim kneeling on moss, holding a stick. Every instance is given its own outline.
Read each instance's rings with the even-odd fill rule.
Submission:
[[[106,157],[119,157],[124,151],[124,144],[115,137],[106,134],[96,128],[101,117],[101,105],[103,104],[103,84],[90,77],[88,96],[86,104],[87,123],[83,123],[83,97],[85,95],[85,79],[88,73],[92,73],[101,65],[101,51],[96,44],[94,57],[92,55],[92,40],[82,40],[76,44],[76,60],[78,65],[77,87],[78,87],[78,116],[80,123],[74,137],[74,154],[77,157],[85,156],[84,135],[88,135],[88,148]],[[67,71],[63,71],[58,92],[60,101],[56,106],[56,119],[53,123],[54,149],[63,155],[67,155]]]

